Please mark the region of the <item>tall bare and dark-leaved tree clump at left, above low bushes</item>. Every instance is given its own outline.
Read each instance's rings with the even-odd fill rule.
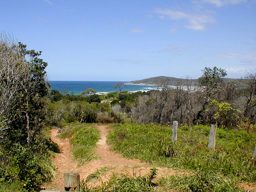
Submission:
[[[41,51],[27,50],[26,45],[1,34],[0,134],[10,143],[30,144],[42,130],[50,84],[45,79],[47,63],[40,55]]]

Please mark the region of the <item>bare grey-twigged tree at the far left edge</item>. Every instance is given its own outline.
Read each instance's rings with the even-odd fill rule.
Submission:
[[[28,70],[29,65],[12,36],[0,34],[0,130],[10,128],[10,123],[18,118],[14,109],[22,90],[20,80]]]

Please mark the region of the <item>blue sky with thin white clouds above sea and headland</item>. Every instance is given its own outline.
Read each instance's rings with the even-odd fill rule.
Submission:
[[[256,0],[0,0],[0,30],[42,50],[50,80],[256,72]]]

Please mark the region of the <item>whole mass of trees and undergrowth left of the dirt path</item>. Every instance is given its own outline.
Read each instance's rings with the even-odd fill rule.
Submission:
[[[47,63],[0,34],[0,191],[34,191],[54,176],[58,147],[45,136]]]

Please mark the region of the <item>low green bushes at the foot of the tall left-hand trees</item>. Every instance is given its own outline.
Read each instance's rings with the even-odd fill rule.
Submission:
[[[56,148],[52,142],[22,146],[13,144],[7,152],[0,151],[0,184],[22,185],[23,191],[34,191],[42,182],[55,174],[48,148]]]

